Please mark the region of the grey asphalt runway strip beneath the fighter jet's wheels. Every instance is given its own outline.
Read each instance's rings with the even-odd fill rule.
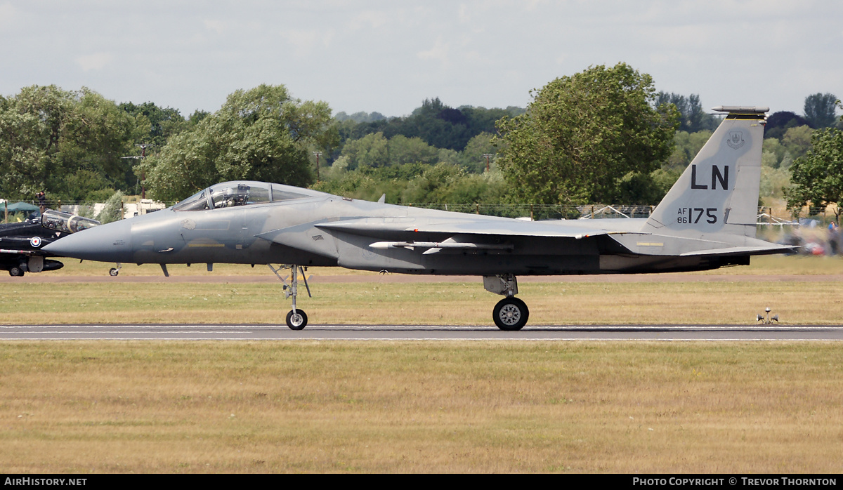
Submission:
[[[7,325],[0,340],[663,340],[840,341],[843,326],[535,326],[519,332],[444,325]]]

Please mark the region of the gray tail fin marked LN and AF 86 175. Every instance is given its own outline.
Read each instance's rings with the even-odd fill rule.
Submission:
[[[642,232],[755,236],[766,107],[715,107],[726,119],[653,211]]]

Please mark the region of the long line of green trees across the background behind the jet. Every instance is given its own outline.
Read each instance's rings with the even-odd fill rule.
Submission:
[[[260,85],[185,117],[89,88],[33,86],[0,97],[0,196],[33,200],[45,190],[53,200],[102,202],[145,190],[175,201],[253,179],[398,204],[656,204],[720,121],[699,95],[657,92],[626,63],[559,77],[531,95],[526,108],[433,98],[402,117],[332,116],[325,102]],[[803,180],[791,188],[791,175],[810,166],[821,138],[837,137],[839,104],[817,93],[803,115],[768,117],[762,194],[819,202]]]

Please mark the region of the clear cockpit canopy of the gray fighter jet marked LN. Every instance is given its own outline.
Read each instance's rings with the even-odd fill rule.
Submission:
[[[306,194],[308,193],[308,194]],[[201,190],[173,206],[174,211],[216,210],[232,206],[264,204],[314,197],[316,193],[282,184],[240,180],[223,182]]]

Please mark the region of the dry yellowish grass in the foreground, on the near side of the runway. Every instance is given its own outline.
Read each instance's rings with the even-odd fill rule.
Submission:
[[[0,473],[843,471],[831,343],[7,342]]]

